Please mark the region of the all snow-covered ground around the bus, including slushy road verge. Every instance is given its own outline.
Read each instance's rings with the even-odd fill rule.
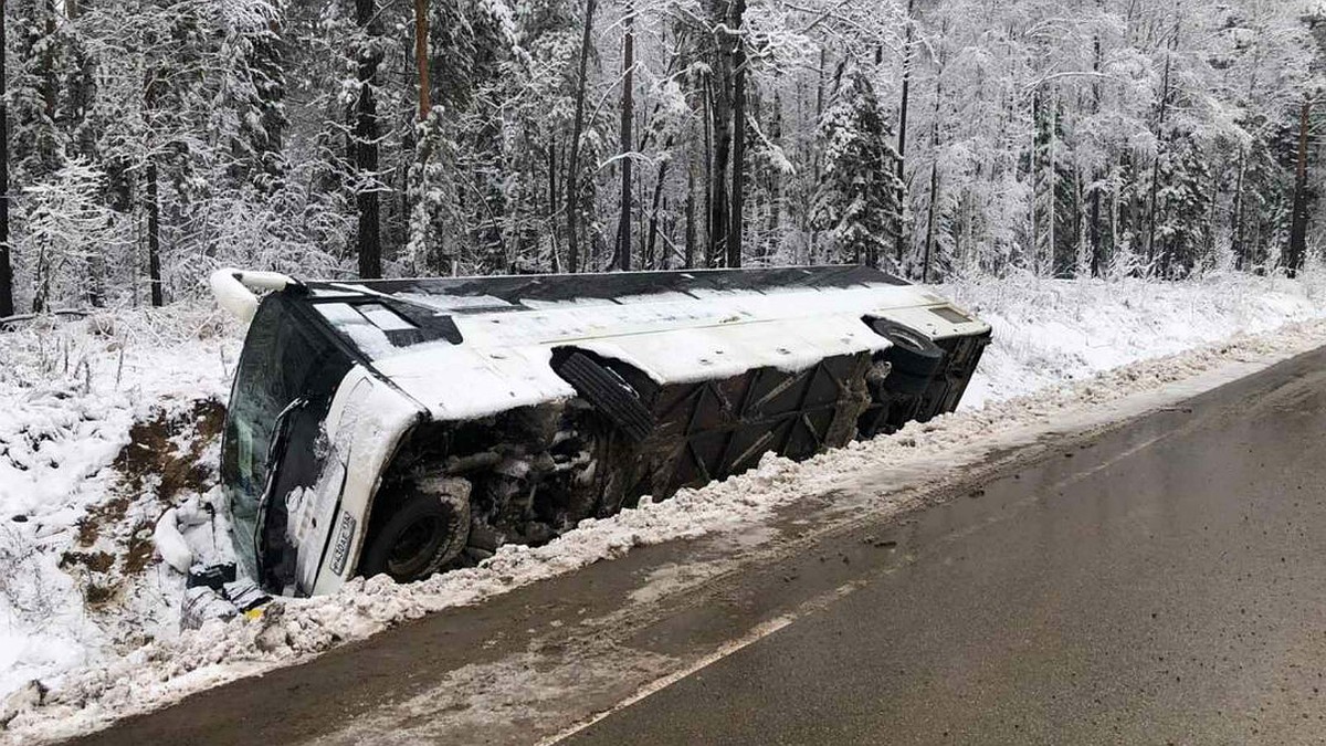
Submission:
[[[586,520],[545,547],[504,547],[477,568],[403,587],[355,580],[188,632],[179,631],[184,577],[151,554],[151,532],[167,508],[215,496],[237,328],[208,308],[176,307],[0,333],[0,701],[17,692],[0,722],[12,717],[8,737],[25,741],[76,734],[635,546],[749,530],[801,495],[880,469],[943,471],[1046,423],[1110,417],[1139,390],[1326,344],[1326,281],[1315,275],[1014,277],[940,292],[994,327],[955,415],[804,465],[766,458],[724,483]],[[45,705],[19,708],[32,680],[49,688]]]

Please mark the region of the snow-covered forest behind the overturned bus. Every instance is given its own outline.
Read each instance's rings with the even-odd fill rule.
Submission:
[[[309,277],[1293,275],[1319,0],[9,0],[0,317]]]

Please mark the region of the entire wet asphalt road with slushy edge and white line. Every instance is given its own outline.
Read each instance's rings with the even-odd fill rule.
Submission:
[[[808,495],[772,548],[636,550],[81,742],[1326,742],[1323,435],[1326,349],[923,510]]]

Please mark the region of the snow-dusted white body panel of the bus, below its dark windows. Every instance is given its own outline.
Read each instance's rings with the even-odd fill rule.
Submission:
[[[879,352],[890,342],[865,323],[871,316],[908,317],[936,337],[988,329],[932,313],[936,304],[943,300],[924,288],[886,285],[729,291],[704,299],[664,293],[622,305],[457,315],[461,344],[402,346],[377,357],[374,366],[435,419],[471,419],[573,396],[549,364],[558,348],[619,360],[659,384],[680,384],[754,368],[802,370],[829,357]]]

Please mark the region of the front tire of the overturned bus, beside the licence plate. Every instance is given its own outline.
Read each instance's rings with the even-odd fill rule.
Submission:
[[[453,482],[464,488],[446,488]],[[369,536],[359,572],[412,583],[442,569],[469,539],[468,487],[463,479],[427,479],[410,487]]]

